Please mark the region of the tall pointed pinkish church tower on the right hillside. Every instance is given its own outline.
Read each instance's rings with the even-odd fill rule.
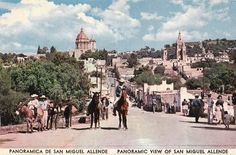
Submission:
[[[186,46],[180,32],[176,41],[176,58],[185,62],[187,60]]]

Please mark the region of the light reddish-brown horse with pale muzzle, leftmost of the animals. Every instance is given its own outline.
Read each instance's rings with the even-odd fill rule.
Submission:
[[[37,122],[38,123],[38,131],[39,130],[43,131],[43,123],[42,123],[43,110],[42,110],[42,108],[40,108],[40,107],[37,108],[37,115],[34,118],[33,111],[31,109],[29,109],[27,104],[20,103],[18,105],[18,109],[16,111],[16,114],[19,114],[19,113],[24,114],[25,117],[26,117],[27,132],[28,133],[33,132],[33,122]],[[29,131],[29,129],[30,129],[30,131]]]

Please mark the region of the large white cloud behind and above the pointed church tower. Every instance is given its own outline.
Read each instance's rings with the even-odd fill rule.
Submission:
[[[183,4],[182,1],[174,1],[177,4]],[[183,7],[183,10],[177,12],[164,21],[158,32],[151,33],[150,31],[143,36],[144,41],[175,41],[178,32],[181,31],[186,41],[196,41],[209,38],[208,33],[204,28],[212,21],[223,22],[229,19],[228,7],[216,9],[207,6],[204,3],[198,3],[194,0],[193,5]]]

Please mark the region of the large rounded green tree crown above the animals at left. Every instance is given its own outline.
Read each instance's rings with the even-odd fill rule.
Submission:
[[[44,94],[52,99],[79,98],[89,90],[86,74],[66,62],[28,61],[11,70],[11,79],[12,87],[17,91]]]

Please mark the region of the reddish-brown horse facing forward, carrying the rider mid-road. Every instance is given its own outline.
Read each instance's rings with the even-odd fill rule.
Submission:
[[[123,89],[121,92],[121,97],[117,103],[117,111],[119,115],[119,129],[121,128],[121,121],[123,121],[124,128],[128,129],[127,127],[128,107],[129,107],[128,95],[126,93],[126,90]]]

